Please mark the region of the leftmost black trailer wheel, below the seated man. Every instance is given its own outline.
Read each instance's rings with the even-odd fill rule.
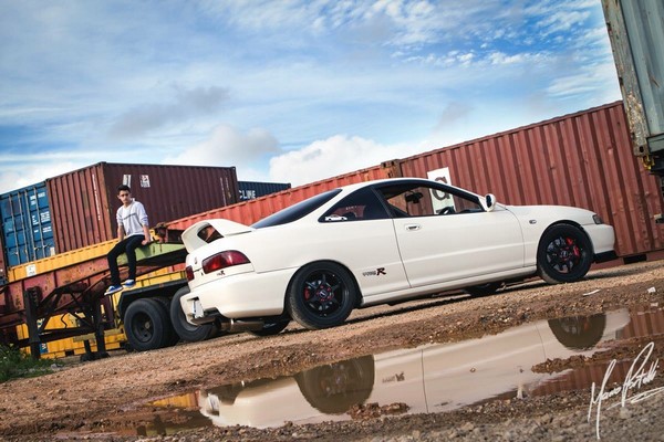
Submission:
[[[127,307],[124,317],[127,340],[136,351],[166,347],[170,338],[168,316],[158,301],[136,299]]]

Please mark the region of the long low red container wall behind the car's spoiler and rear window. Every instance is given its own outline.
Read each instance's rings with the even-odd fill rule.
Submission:
[[[309,185],[294,187],[283,190],[278,193],[271,193],[266,197],[255,200],[245,201],[238,204],[210,210],[205,213],[198,213],[191,217],[186,217],[179,220],[167,223],[172,230],[185,230],[189,225],[211,219],[225,218],[242,224],[252,224],[256,221],[272,214],[283,208],[300,202],[309,197],[324,192],[325,190],[335,189],[341,186],[351,185],[354,182],[370,181],[374,179],[387,178],[388,170],[382,166],[357,170],[354,172],[341,175],[339,177],[329,178],[322,181],[312,182]]]

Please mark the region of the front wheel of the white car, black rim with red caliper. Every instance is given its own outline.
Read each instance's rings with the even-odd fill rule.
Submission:
[[[537,252],[538,274],[549,284],[581,280],[592,264],[592,244],[580,228],[556,224],[540,239]]]

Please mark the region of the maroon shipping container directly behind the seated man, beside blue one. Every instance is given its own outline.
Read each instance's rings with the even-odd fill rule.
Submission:
[[[58,253],[115,238],[123,183],[145,206],[151,227],[238,200],[235,167],[100,162],[46,180]]]

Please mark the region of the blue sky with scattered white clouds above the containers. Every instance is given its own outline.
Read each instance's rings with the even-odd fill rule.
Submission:
[[[0,0],[0,193],[100,161],[300,186],[621,99],[600,0]]]

